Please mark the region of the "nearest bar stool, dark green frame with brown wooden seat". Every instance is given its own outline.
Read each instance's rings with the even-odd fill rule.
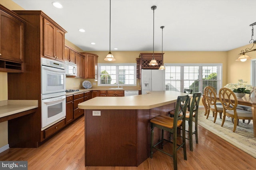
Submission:
[[[167,154],[173,158],[174,170],[177,170],[178,168],[177,167],[177,150],[178,149],[183,148],[184,160],[187,160],[185,131],[182,131],[181,144],[177,143],[177,132],[178,132],[178,127],[180,127],[181,125],[182,127],[185,128],[185,125],[186,125],[185,115],[186,115],[186,109],[188,106],[188,100],[189,100],[188,95],[178,96],[175,111],[174,111],[174,117],[160,115],[150,119],[150,127],[151,127],[150,158],[153,158],[153,148],[156,150],[159,150],[160,152],[163,152],[164,154]],[[184,102],[184,104],[182,104],[182,102]],[[161,140],[158,141],[156,144],[153,144],[154,127],[157,127],[162,131]],[[164,131],[168,131],[169,133],[172,133],[173,135],[172,141],[164,139]],[[163,150],[164,141],[167,141],[168,143],[172,143],[172,154]],[[159,144],[161,144],[160,149],[159,147],[157,147],[157,145]]]

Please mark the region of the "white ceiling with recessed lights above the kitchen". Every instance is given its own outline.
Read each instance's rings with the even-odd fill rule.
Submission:
[[[42,10],[82,50],[109,50],[109,0],[13,1],[25,10]],[[249,44],[249,25],[256,22],[256,0],[111,0],[111,51],[153,50],[154,5],[154,51],[162,50],[160,26],[163,51],[228,51]]]

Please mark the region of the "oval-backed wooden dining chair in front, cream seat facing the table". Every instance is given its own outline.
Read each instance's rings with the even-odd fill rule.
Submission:
[[[234,92],[229,88],[221,88],[219,91],[219,98],[223,106],[223,118],[221,126],[224,125],[226,116],[231,117],[234,119],[233,132],[235,132],[239,119],[252,119],[252,112],[236,109],[238,101]]]

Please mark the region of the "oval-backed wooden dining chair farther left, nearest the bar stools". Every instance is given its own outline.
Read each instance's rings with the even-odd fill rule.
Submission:
[[[220,104],[216,104],[216,90],[214,90],[211,86],[206,86],[204,88],[204,96],[207,104],[207,113],[204,115],[206,116],[206,119],[208,119],[210,111],[212,111],[214,116],[214,123],[216,122],[217,113],[220,113],[220,118],[223,112],[223,106]]]

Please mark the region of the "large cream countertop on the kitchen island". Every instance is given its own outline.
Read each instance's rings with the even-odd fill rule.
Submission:
[[[171,104],[177,96],[185,93],[174,91],[150,92],[137,96],[125,97],[96,97],[78,104],[80,109],[152,109],[154,107]],[[192,94],[189,95],[192,97]]]

